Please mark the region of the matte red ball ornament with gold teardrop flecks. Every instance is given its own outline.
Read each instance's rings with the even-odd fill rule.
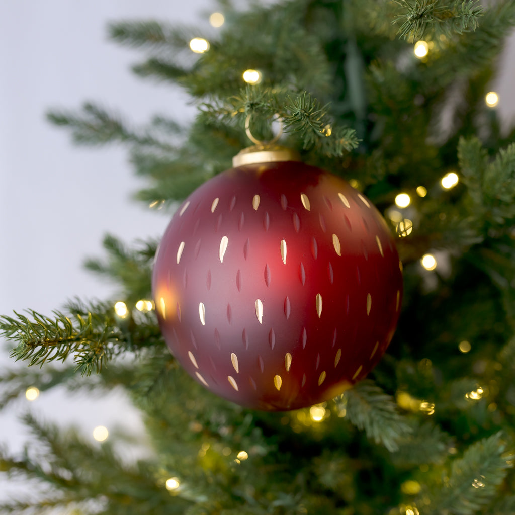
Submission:
[[[393,336],[402,297],[393,238],[345,180],[280,151],[236,159],[163,236],[152,289],[164,339],[196,381],[237,404],[331,399]]]

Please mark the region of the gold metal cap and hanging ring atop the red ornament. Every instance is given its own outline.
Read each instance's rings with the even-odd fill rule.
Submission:
[[[254,138],[254,135],[250,131],[249,114],[245,120],[245,131],[249,140],[255,143],[255,145],[244,148],[232,158],[232,165],[235,168],[237,166],[245,166],[247,164],[301,161],[300,154],[296,150],[276,144],[283,133],[282,126],[279,133],[273,138],[273,140],[267,142],[260,141]]]

